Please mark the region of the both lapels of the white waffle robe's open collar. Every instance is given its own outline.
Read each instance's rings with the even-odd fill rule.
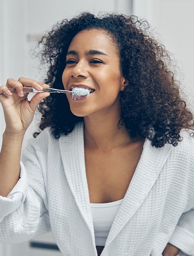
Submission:
[[[85,220],[95,245],[93,220],[85,171],[83,123],[78,123],[67,136],[59,138],[59,147],[65,175],[79,211]],[[105,246],[108,246],[137,212],[154,185],[171,150],[171,145],[152,147],[145,140],[143,152],[121,207],[117,212]]]

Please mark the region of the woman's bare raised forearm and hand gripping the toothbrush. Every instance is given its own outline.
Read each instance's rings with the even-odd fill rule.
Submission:
[[[3,197],[8,196],[18,182],[24,134],[32,122],[37,105],[49,95],[49,93],[38,93],[28,101],[28,95],[23,93],[23,85],[32,86],[37,90],[48,87],[44,83],[25,78],[20,78],[18,81],[8,79],[6,86],[0,87],[0,102],[6,121],[0,152],[0,195]],[[11,93],[8,87],[16,88],[17,93]]]

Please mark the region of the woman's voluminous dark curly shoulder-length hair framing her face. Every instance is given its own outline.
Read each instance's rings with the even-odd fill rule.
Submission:
[[[82,13],[53,26],[39,42],[42,63],[49,64],[45,83],[63,89],[62,73],[73,37],[81,30],[104,30],[111,36],[121,58],[121,73],[127,81],[121,92],[121,119],[130,137],[148,138],[152,146],[173,146],[181,141],[181,129],[194,129],[194,118],[180,96],[178,82],[168,70],[170,55],[149,34],[149,25],[136,16]],[[39,105],[40,129],[51,127],[54,137],[73,131],[83,121],[71,113],[66,95],[53,93]],[[36,136],[38,133],[35,133]],[[191,133],[193,134],[193,133]]]

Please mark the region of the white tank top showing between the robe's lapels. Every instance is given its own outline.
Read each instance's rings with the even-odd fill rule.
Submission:
[[[90,204],[96,245],[105,246],[113,220],[122,201],[123,199],[105,204]]]

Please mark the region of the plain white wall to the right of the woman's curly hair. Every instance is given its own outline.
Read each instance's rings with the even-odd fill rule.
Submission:
[[[133,14],[146,18],[180,68],[177,77],[194,109],[194,1],[134,0]]]

